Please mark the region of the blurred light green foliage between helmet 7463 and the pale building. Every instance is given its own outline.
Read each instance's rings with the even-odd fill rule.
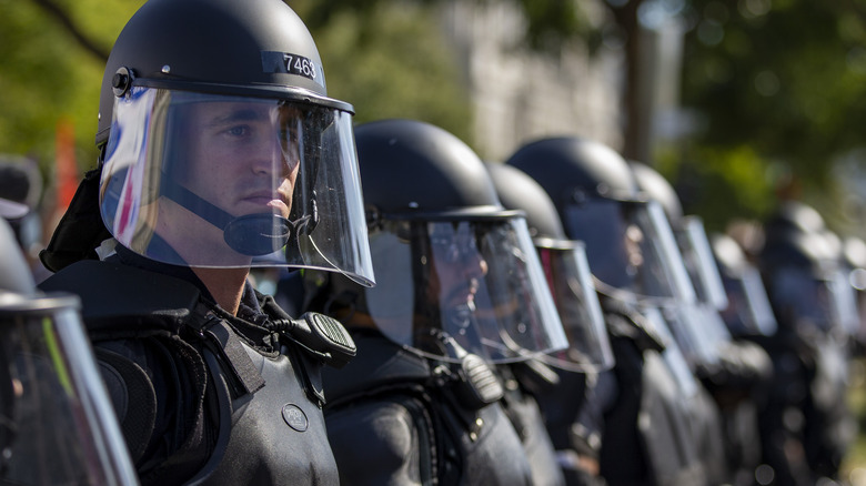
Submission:
[[[305,2],[292,7],[305,19]],[[472,143],[469,94],[461,88],[455,54],[447,49],[435,10],[382,2],[363,16],[332,12],[326,24],[313,29],[313,37],[328,94],[352,103],[355,122],[417,119]]]

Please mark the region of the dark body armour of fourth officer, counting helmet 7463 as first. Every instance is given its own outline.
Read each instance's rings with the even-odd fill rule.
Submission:
[[[703,486],[691,412],[636,311],[600,295],[611,336],[616,397],[604,412],[601,470],[607,484]]]

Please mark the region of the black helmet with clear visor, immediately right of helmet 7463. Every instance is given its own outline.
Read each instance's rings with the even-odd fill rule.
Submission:
[[[436,358],[508,362],[566,347],[525,217],[502,206],[472,149],[412,120],[361,124],[355,140],[377,275],[356,310]]]

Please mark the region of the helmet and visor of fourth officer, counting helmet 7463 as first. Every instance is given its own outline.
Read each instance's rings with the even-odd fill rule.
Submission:
[[[505,162],[550,195],[566,234],[586,244],[597,288],[638,298],[694,298],[664,211],[644,198],[628,163],[603,143],[543,139]]]

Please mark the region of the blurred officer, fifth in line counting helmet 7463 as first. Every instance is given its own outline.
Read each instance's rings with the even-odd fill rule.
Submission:
[[[755,395],[763,394],[769,383],[769,356],[756,344],[734,341],[722,320],[719,311],[727,306],[727,294],[701,217],[683,215],[673,185],[655,169],[641,162],[631,165],[641,190],[665,210],[695,290],[694,301],[675,305],[681,310],[683,331],[697,348],[689,356],[692,369],[716,405],[697,408],[707,412],[698,418],[705,427],[704,462],[714,472],[711,482],[751,484],[759,464],[753,399],[763,403]]]

